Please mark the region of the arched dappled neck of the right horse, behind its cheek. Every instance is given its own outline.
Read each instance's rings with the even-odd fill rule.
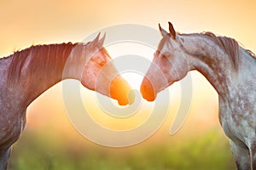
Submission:
[[[225,98],[232,90],[230,84],[238,73],[238,60],[230,59],[229,53],[216,42],[218,38],[213,34],[211,36],[204,34],[183,36],[183,48],[185,54],[188,55],[191,69],[201,72],[216,89],[218,95]],[[235,40],[230,38],[227,39],[228,41]],[[237,42],[233,43],[235,44],[234,50],[238,50]]]

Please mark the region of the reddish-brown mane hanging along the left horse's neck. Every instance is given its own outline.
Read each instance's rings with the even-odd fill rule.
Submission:
[[[17,83],[19,81],[22,68],[28,66],[27,64],[29,64],[30,71],[28,71],[28,73],[30,74],[34,74],[35,71],[48,71],[49,74],[47,75],[52,74],[50,73],[52,71],[47,68],[55,68],[56,63],[64,65],[68,55],[75,45],[76,44],[71,42],[37,45],[9,55],[9,57],[7,57],[11,58],[7,76],[9,84]],[[30,75],[27,75],[27,77],[30,77]]]

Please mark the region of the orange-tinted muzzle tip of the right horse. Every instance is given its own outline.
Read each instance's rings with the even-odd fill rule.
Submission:
[[[148,101],[154,101],[154,99],[155,99],[153,85],[148,80],[147,77],[143,78],[143,82],[141,85],[141,94],[143,95],[143,98],[147,99]]]

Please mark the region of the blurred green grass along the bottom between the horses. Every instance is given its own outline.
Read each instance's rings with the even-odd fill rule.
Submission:
[[[54,131],[53,131],[54,132]],[[192,136],[192,135],[190,135]],[[14,145],[10,170],[200,170],[235,169],[228,139],[217,131],[128,148],[107,148],[85,139],[26,131]],[[78,142],[76,142],[78,140]]]

